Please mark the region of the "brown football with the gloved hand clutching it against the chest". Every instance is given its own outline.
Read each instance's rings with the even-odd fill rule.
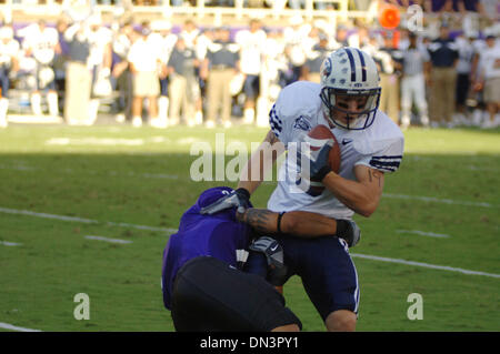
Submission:
[[[340,171],[340,148],[330,129],[322,124],[314,127],[304,136],[303,142],[308,144],[309,149],[303,150],[302,143],[299,145],[297,162],[301,178],[310,181],[307,193],[317,196],[324,190],[324,185],[321,183],[324,176],[331,171],[336,173]],[[308,164],[309,171],[307,170]]]

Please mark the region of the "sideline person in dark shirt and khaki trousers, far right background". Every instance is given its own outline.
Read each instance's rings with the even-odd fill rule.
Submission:
[[[428,82],[431,88],[431,125],[450,128],[454,112],[454,89],[450,88],[457,85],[458,51],[447,23],[441,26],[440,37],[429,44],[428,50],[432,62],[431,79]]]

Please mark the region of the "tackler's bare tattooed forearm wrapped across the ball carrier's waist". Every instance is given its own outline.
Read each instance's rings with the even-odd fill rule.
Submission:
[[[260,233],[284,233],[302,237],[334,236],[337,233],[334,219],[310,212],[287,212],[279,220],[279,213],[250,208],[243,214],[237,214],[237,218]]]

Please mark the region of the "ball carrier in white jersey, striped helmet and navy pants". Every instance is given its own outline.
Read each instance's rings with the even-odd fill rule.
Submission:
[[[300,146],[312,128],[323,124],[339,143],[339,173],[328,165],[331,144],[326,143],[309,158],[302,154],[301,159],[287,159],[268,209],[279,213],[281,222],[290,211],[346,221],[354,213],[370,216],[380,202],[386,174],[399,168],[404,142],[398,125],[378,111],[379,81],[373,59],[359,49],[346,47],[323,61],[320,84],[299,81],[286,87],[271,109],[271,130],[241,173],[234,192],[243,206],[241,211],[262,182],[264,166],[272,166],[286,150],[293,158],[292,149]],[[300,153],[300,148],[298,151]],[[321,193],[313,193],[298,183],[301,178],[308,178],[302,175],[301,168],[306,164],[309,164],[309,169],[304,169],[310,171],[309,178],[324,186]],[[338,223],[337,227],[344,226]],[[281,235],[277,240],[283,247],[288,266],[283,283],[289,276],[299,275],[327,330],[354,331],[359,283],[346,242],[328,236]]]

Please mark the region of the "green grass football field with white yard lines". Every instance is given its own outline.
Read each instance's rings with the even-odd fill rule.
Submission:
[[[204,189],[236,185],[190,178],[199,158],[191,146],[214,146],[217,132],[0,130],[0,324],[173,331],[160,289],[169,229]],[[224,140],[250,148],[264,134],[236,127]],[[351,250],[361,285],[358,331],[500,331],[500,131],[411,129],[406,138],[403,163],[387,176],[379,210],[356,218],[362,229]],[[266,206],[273,186],[258,190],[256,206]],[[90,320],[73,316],[79,293],[89,295]],[[423,320],[407,316],[412,293],[422,296]],[[300,279],[292,277],[284,295],[304,331],[324,330]]]

